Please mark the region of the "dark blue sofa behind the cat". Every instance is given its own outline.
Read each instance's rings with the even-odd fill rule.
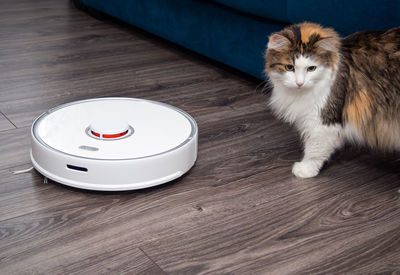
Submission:
[[[346,36],[400,25],[400,0],[77,0],[185,48],[263,78],[270,33],[302,21]]]

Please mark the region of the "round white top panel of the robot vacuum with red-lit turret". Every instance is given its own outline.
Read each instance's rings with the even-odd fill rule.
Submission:
[[[100,98],[61,105],[32,127],[43,145],[89,159],[123,160],[162,154],[197,134],[185,112],[159,102]]]

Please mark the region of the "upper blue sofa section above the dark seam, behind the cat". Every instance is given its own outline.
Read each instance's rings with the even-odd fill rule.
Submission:
[[[398,0],[213,0],[231,9],[284,23],[310,21],[342,36],[361,30],[400,26]]]

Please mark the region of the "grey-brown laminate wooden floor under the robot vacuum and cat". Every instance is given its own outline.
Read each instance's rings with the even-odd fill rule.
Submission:
[[[66,0],[0,5],[1,274],[400,274],[398,156],[345,148],[297,179],[298,136],[257,81]],[[104,96],[189,112],[193,169],[114,193],[11,173],[36,116]]]

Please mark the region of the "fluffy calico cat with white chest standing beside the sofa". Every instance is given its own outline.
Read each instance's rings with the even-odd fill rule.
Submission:
[[[265,57],[270,106],[304,143],[294,175],[318,175],[346,141],[400,150],[400,27],[340,39],[301,23],[273,33]]]

